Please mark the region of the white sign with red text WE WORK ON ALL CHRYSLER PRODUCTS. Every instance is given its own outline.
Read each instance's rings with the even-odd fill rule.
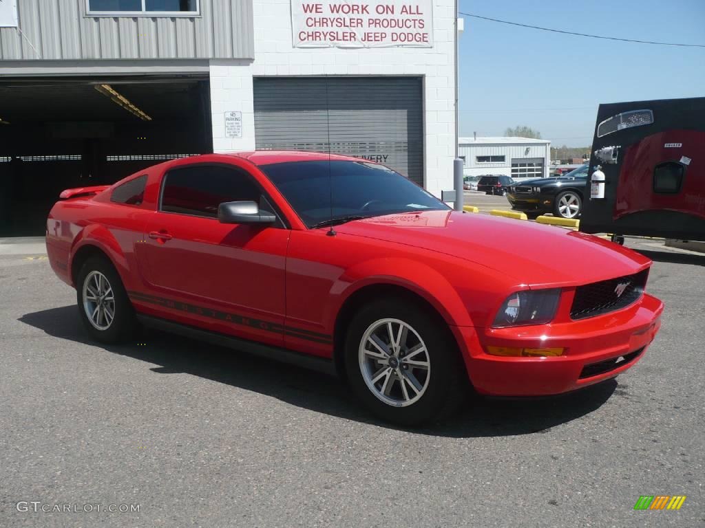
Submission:
[[[295,48],[433,47],[432,0],[291,0]]]

